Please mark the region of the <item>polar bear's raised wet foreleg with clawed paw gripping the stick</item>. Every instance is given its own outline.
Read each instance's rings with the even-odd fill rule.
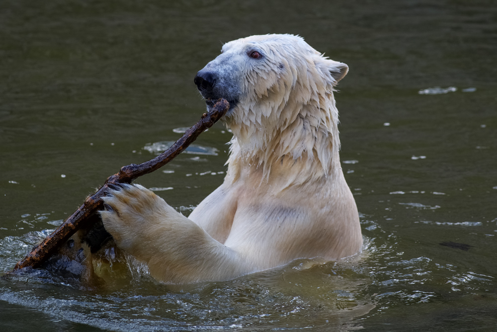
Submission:
[[[117,245],[167,283],[227,280],[253,271],[244,256],[140,185],[112,186],[100,212]]]

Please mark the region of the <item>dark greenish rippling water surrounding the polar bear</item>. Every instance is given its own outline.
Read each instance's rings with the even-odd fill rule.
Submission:
[[[0,271],[107,176],[198,120],[193,77],[221,42],[269,32],[300,34],[350,66],[336,99],[361,257],[188,287],[132,262],[103,288],[7,276],[2,329],[497,329],[491,0],[2,1]],[[196,141],[209,153],[138,182],[188,213],[222,182],[230,137],[216,125]]]

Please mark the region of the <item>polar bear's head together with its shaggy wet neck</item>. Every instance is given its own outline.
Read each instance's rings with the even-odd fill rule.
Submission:
[[[283,155],[318,159],[328,173],[339,148],[333,87],[347,71],[299,36],[270,34],[224,44],[194,81],[204,98],[230,102],[232,154],[266,166]]]

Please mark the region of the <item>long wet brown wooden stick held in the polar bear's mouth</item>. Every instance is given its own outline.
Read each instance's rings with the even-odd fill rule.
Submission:
[[[212,125],[221,119],[221,117],[228,112],[229,108],[230,104],[228,101],[223,98],[219,99],[208,113],[204,113],[202,118],[193,127],[188,129],[181,138],[162,154],[140,165],[131,164],[124,166],[117,174],[108,177],[103,186],[100,187],[95,194],[89,196],[84,201],[83,205],[69,216],[59,228],[47,236],[41,244],[33,248],[22,261],[19,261],[14,266],[13,270],[27,266],[38,267],[43,264],[60,246],[65,244],[74,233],[83,227],[91,226],[88,223],[94,223],[95,220],[97,220],[96,218],[91,218],[91,216],[93,216],[96,211],[103,208],[101,198],[105,196],[109,184],[131,183],[136,178],[154,172],[166,165],[186,149],[199,134],[212,127]]]

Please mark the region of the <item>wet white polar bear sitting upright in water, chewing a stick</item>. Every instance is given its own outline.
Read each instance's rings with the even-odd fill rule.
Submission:
[[[188,218],[140,185],[112,186],[101,217],[118,247],[166,283],[227,280],[298,258],[359,252],[333,97],[347,71],[299,36],[224,44],[194,80],[208,101],[230,102],[223,184]]]

